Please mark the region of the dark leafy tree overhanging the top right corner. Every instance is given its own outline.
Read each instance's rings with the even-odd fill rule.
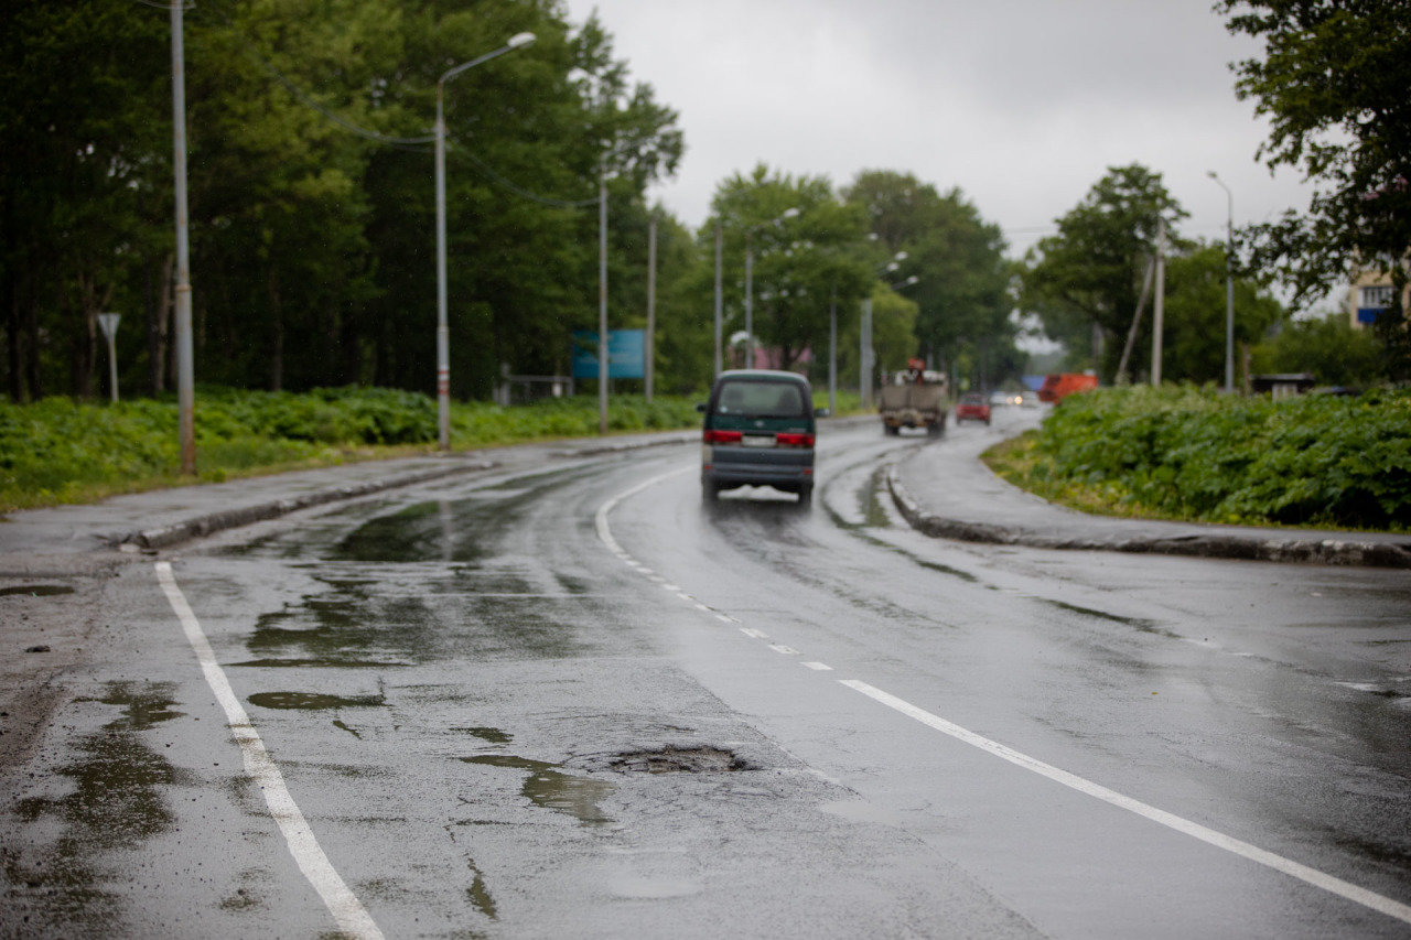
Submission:
[[[1264,40],[1232,68],[1236,95],[1273,121],[1257,157],[1318,185],[1308,212],[1246,229],[1253,265],[1298,298],[1390,272],[1394,301],[1377,332],[1395,378],[1411,378],[1403,303],[1411,248],[1411,6],[1391,0],[1221,0],[1230,32]]]

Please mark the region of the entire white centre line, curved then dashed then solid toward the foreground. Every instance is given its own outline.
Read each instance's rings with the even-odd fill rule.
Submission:
[[[608,546],[608,550],[611,550],[614,555],[621,558],[624,562],[626,562],[631,567],[636,569],[638,572],[643,574],[655,574],[650,569],[636,562],[636,559],[634,559],[628,552],[625,552],[622,546],[618,545],[617,539],[612,538],[612,529],[608,525],[608,514],[622,500],[626,500],[628,497],[641,493],[648,487],[656,486],[662,480],[679,476],[682,473],[687,473],[693,467],[684,467],[682,470],[663,473],[649,480],[643,480],[631,490],[619,493],[618,495],[612,497],[601,507],[598,507],[595,519],[598,538],[602,539],[602,543]],[[652,580],[665,580],[665,579],[653,577]],[[694,598],[687,597],[684,594],[682,597],[683,600],[694,601]],[[741,622],[739,620],[731,617],[729,614],[717,611],[714,607],[708,607],[706,604],[698,604],[698,603],[696,604],[696,607],[698,610],[715,614],[715,618],[722,622],[727,624]],[[765,632],[753,629],[751,627],[741,627],[739,629],[742,634],[755,639],[769,638]],[[769,644],[769,648],[780,653],[801,655],[799,653],[797,649],[785,646],[783,644]],[[816,672],[834,672],[832,666],[824,665],[821,662],[803,662],[800,665],[807,669],[813,669]],[[1085,781],[1081,776],[1077,776],[1067,771],[1061,771],[1050,764],[1044,764],[1043,761],[1034,759],[1026,754],[1020,754],[1013,748],[1007,748],[1003,744],[999,744],[998,741],[991,741],[989,738],[975,734],[974,731],[968,731],[959,727],[958,724],[952,724],[945,718],[934,716],[930,711],[919,709],[910,704],[909,701],[904,701],[903,699],[897,699],[896,696],[882,692],[880,689],[869,686],[868,683],[861,682],[858,679],[840,679],[840,682],[844,686],[861,692],[862,694],[888,706],[889,709],[895,709],[896,711],[900,711],[907,717],[916,718],[917,721],[926,724],[927,727],[935,728],[937,731],[948,734],[952,738],[957,738],[958,741],[964,741],[965,744],[969,744],[982,751],[993,754],[995,757],[1009,761],[1010,764],[1015,764],[1027,771],[1046,776],[1050,781],[1054,781],[1055,783],[1062,783],[1064,786],[1068,786],[1074,790],[1086,793],[1088,796],[1094,796],[1099,800],[1103,800],[1105,803],[1136,813],[1137,816],[1141,816],[1154,823],[1173,828],[1178,833],[1184,833],[1185,836],[1191,836],[1192,838],[1198,838],[1209,845],[1215,845],[1216,848],[1223,848],[1225,851],[1240,855],[1242,858],[1246,858],[1249,861],[1257,862],[1267,868],[1273,868],[1274,871],[1297,878],[1305,884],[1314,885],[1315,888],[1322,888],[1324,891],[1328,891],[1340,898],[1346,898],[1348,900],[1370,908],[1371,910],[1377,910],[1390,917],[1395,917],[1397,920],[1411,923],[1411,905],[1404,905],[1398,900],[1393,900],[1373,891],[1367,891],[1366,888],[1359,888],[1357,885],[1342,881],[1340,878],[1335,878],[1315,868],[1309,868],[1308,865],[1301,865],[1290,858],[1284,858],[1283,855],[1276,855],[1274,852],[1240,841],[1232,836],[1226,836],[1225,833],[1208,828],[1205,826],[1201,826],[1199,823],[1192,823],[1191,820],[1175,816],[1174,813],[1167,813],[1165,810],[1160,810],[1154,806],[1149,806],[1146,803],[1141,803],[1140,800],[1132,799],[1130,796],[1123,796],[1116,790],[1109,790],[1108,788],[1099,783]]]

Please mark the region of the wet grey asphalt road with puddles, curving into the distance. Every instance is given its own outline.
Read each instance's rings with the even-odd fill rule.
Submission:
[[[834,429],[810,511],[687,446],[230,532],[161,556],[206,675],[123,569],[0,926],[1411,936],[1411,577],[909,529],[878,469],[981,433]]]

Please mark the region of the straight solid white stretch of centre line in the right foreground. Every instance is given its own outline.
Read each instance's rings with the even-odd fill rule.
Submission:
[[[1215,845],[1216,848],[1223,848],[1228,852],[1233,852],[1235,855],[1240,855],[1242,858],[1247,858],[1260,865],[1266,865],[1267,868],[1273,868],[1274,871],[1280,871],[1285,875],[1307,882],[1315,888],[1322,888],[1324,891],[1335,893],[1340,898],[1346,898],[1348,900],[1363,905],[1364,908],[1370,908],[1373,910],[1384,913],[1388,917],[1395,917],[1397,920],[1411,923],[1411,906],[1404,905],[1398,900],[1393,900],[1391,898],[1384,898],[1376,892],[1367,891],[1366,888],[1359,888],[1357,885],[1353,885],[1350,882],[1342,881],[1340,878],[1335,878],[1332,875],[1321,872],[1316,868],[1301,865],[1290,858],[1284,858],[1283,855],[1276,855],[1274,852],[1259,848],[1257,845],[1250,845],[1249,843],[1240,841],[1232,836],[1226,836],[1225,833],[1219,833],[1213,828],[1208,828],[1205,826],[1201,826],[1199,823],[1192,823],[1191,820],[1175,816],[1174,813],[1167,813],[1165,810],[1156,809],[1154,806],[1149,806],[1147,803],[1134,800],[1130,796],[1123,796],[1116,790],[1109,790],[1105,786],[1094,783],[1092,781],[1086,781],[1081,776],[1077,776],[1075,773],[1070,773],[1068,771],[1060,771],[1051,764],[1044,764],[1043,761],[1037,761],[1029,757],[1027,754],[1020,754],[1013,748],[1007,748],[1003,744],[999,744],[998,741],[991,741],[989,738],[975,734],[974,731],[968,731],[958,724],[954,724],[951,721],[947,721],[945,718],[934,716],[930,711],[926,711],[924,709],[919,709],[914,704],[903,699],[897,699],[896,696],[889,694],[886,692],[882,692],[875,686],[869,686],[865,682],[859,682],[856,679],[840,679],[840,682],[848,686],[849,689],[861,692],[869,699],[880,701],[889,709],[900,711],[909,718],[916,718],[921,724],[934,728],[941,734],[948,734],[957,741],[964,741],[971,747],[976,747],[981,751],[993,754],[995,757],[1003,761],[1009,761],[1010,764],[1015,764],[1017,766],[1022,766],[1026,771],[1031,771],[1034,773],[1038,773],[1040,776],[1047,776],[1050,781],[1054,781],[1055,783],[1062,783],[1064,786],[1078,790],[1079,793],[1086,793],[1088,796],[1096,797],[1103,803],[1110,803],[1112,806],[1116,806],[1119,809],[1125,809],[1130,813],[1136,813],[1137,816],[1143,816],[1151,820],[1153,823],[1160,823],[1167,828],[1174,828],[1178,833],[1184,833],[1185,836],[1198,838],[1202,843]]]

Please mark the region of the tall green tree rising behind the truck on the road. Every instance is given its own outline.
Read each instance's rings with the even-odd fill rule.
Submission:
[[[916,282],[903,292],[919,308],[916,337],[933,358],[965,357],[976,363],[1017,363],[1015,325],[1009,319],[1010,265],[998,226],[985,222],[959,189],[945,195],[912,174],[864,171],[844,193],[862,207],[876,243],[878,263],[904,251],[886,279]],[[998,384],[999,374],[985,378]]]

